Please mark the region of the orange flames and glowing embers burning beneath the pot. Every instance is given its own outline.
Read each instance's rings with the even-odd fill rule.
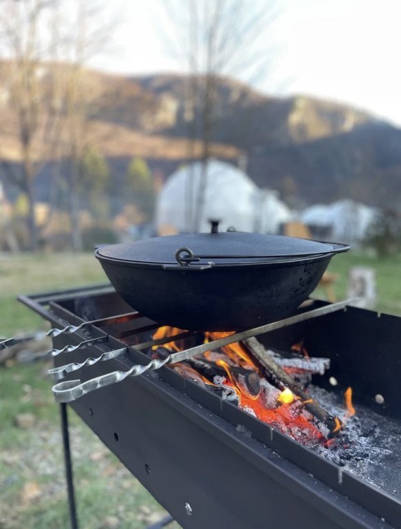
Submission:
[[[157,329],[153,339],[163,340],[170,336],[173,338],[183,332],[185,331],[182,329],[163,326]],[[232,334],[234,332],[205,332],[204,343],[207,344]],[[154,345],[152,349],[156,351],[158,347],[158,345]],[[171,352],[182,351],[185,349],[185,342],[178,339],[163,344],[161,347]],[[295,344],[291,349],[302,352],[309,359],[303,342]],[[196,361],[198,361],[198,366],[196,366]],[[202,362],[205,364],[205,368],[202,367]],[[213,365],[218,366],[215,374]],[[194,369],[195,366],[196,369]],[[174,369],[189,380],[198,383],[203,382],[209,387],[220,386],[234,389],[238,396],[240,408],[255,415],[260,421],[277,428],[282,433],[287,433],[294,439],[298,439],[299,442],[305,444],[311,441],[325,443],[325,437],[318,429],[315,417],[305,408],[305,404],[313,402],[313,400],[309,399],[302,402],[289,388],[286,387],[280,391],[272,386],[249,355],[245,344],[241,342],[199,355],[194,359],[194,363],[171,364],[169,368]],[[222,373],[224,373],[223,376]],[[220,377],[220,379],[216,377]],[[341,423],[336,419],[336,431],[340,428]]]

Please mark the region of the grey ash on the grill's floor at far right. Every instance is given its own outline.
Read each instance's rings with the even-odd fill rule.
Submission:
[[[342,394],[311,384],[308,391],[329,413],[344,416]],[[311,448],[349,473],[401,499],[401,424],[365,406],[345,424],[333,444]]]

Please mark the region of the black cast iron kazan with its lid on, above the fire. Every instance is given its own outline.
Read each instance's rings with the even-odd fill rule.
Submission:
[[[226,231],[103,246],[95,256],[121,297],[160,324],[234,331],[287,317],[346,245]]]

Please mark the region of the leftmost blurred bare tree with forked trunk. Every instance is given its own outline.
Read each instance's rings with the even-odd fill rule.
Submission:
[[[39,145],[54,152],[54,142],[59,138],[59,113],[54,109],[58,86],[48,82],[52,65],[43,65],[50,56],[54,23],[49,25],[48,42],[41,38],[43,22],[50,21],[56,6],[54,0],[1,3],[0,45],[7,59],[6,90],[21,149],[21,172],[10,166],[7,169],[28,198],[28,248],[32,250],[38,246],[34,178],[47,158],[43,149],[39,152]]]

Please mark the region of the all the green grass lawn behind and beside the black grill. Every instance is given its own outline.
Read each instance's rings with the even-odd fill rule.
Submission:
[[[401,256],[378,259],[349,252],[334,258],[329,270],[338,274],[338,299],[345,298],[347,275],[353,266],[376,270],[377,308],[401,315]],[[68,289],[106,280],[92,254],[0,255],[0,335],[12,336],[43,326],[41,318],[17,302],[19,293]],[[317,290],[316,295],[325,297],[325,291]],[[47,367],[15,364],[0,369],[1,529],[68,527],[59,415],[50,382],[43,375]],[[21,413],[34,415],[32,428],[15,426],[15,417]],[[138,509],[143,506],[161,516],[162,508],[96,435],[73,413],[70,422],[81,527],[99,528],[105,517],[113,515],[121,520],[121,529],[143,528],[151,521],[138,517]],[[26,499],[24,488],[32,482],[40,494]]]

